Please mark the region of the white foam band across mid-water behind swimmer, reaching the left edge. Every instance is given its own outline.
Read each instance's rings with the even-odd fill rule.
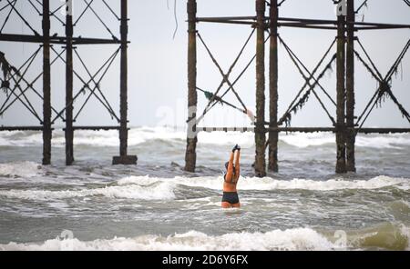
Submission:
[[[149,176],[130,176],[118,180],[118,185],[106,186],[95,189],[79,190],[3,190],[0,195],[25,199],[25,200],[58,200],[74,197],[105,196],[118,199],[137,200],[172,200],[176,199],[174,194],[178,185],[188,187],[203,187],[220,191],[222,184],[221,177],[174,177],[159,178]],[[377,176],[370,180],[337,180],[315,181],[309,179],[276,180],[269,177],[241,178],[238,183],[239,190],[309,190],[309,191],[334,191],[343,189],[380,189],[384,187],[396,187],[408,189],[407,179],[392,178],[388,176]]]

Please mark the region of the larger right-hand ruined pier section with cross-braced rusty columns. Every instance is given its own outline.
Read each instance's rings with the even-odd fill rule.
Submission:
[[[400,110],[401,114],[410,123],[410,115],[405,110],[405,107],[399,103],[395,98],[391,89],[392,75],[395,74],[397,66],[403,60],[405,53],[410,46],[410,39],[405,45],[403,51],[398,56],[395,64],[390,68],[386,75],[381,75],[373,60],[367,54],[364,45],[360,42],[358,34],[360,31],[380,30],[380,29],[398,29],[410,28],[410,25],[393,25],[393,24],[379,24],[379,23],[364,23],[356,22],[355,14],[357,14],[367,3],[366,0],[361,1],[355,9],[354,0],[336,1],[338,3],[337,17],[335,20],[319,20],[319,19],[302,19],[302,18],[287,18],[280,16],[280,7],[285,5],[286,0],[253,0],[256,7],[256,15],[252,16],[230,16],[230,17],[199,17],[197,16],[197,1],[205,0],[187,0],[188,10],[188,139],[186,149],[186,164],[185,170],[194,172],[196,166],[196,147],[198,143],[199,132],[254,132],[255,134],[255,163],[254,169],[257,176],[265,176],[267,168],[272,172],[279,170],[278,165],[278,135],[281,132],[333,132],[336,136],[337,156],[336,156],[336,173],[343,174],[346,172],[355,171],[354,159],[354,142],[356,134],[391,134],[391,133],[409,133],[410,128],[364,128],[364,123],[374,107],[384,101],[387,96],[391,99]],[[251,1],[251,0],[250,0]],[[333,1],[334,2],[334,1]],[[356,1],[358,2],[358,1]],[[404,1],[404,8],[408,8],[408,1]],[[388,5],[386,3],[386,5]],[[267,15],[269,14],[269,15]],[[256,121],[254,127],[200,127],[200,120],[210,111],[216,101],[220,102],[229,91],[233,92],[238,100],[241,98],[234,89],[234,85],[241,78],[241,75],[235,81],[230,80],[230,73],[238,58],[231,65],[230,71],[224,73],[220,68],[215,57],[210,52],[209,47],[204,42],[200,32],[197,29],[198,24],[213,23],[213,24],[233,24],[233,25],[248,25],[253,28],[252,34],[256,31],[256,53],[251,59],[249,65],[245,67],[241,75],[249,68],[252,62],[256,62]],[[335,39],[333,44],[323,55],[323,59],[316,66],[314,70],[309,70],[303,65],[302,61],[292,52],[292,49],[287,45],[280,35],[280,31],[285,30],[286,27],[309,28],[316,30],[333,30]],[[250,36],[250,38],[251,38]],[[249,39],[248,39],[249,41]],[[247,43],[248,43],[247,41]],[[269,42],[269,43],[268,43]],[[222,82],[220,87],[209,100],[202,114],[199,114],[197,109],[197,43],[205,47],[210,55],[213,63],[217,66],[222,75]],[[265,45],[269,45],[269,55],[265,55]],[[278,45],[282,44],[284,51],[292,59],[292,63],[296,65],[300,74],[305,80],[302,90],[293,100],[289,109],[282,117],[278,115],[278,102],[280,101],[280,89],[278,88]],[[246,44],[245,44],[246,45]],[[333,45],[336,46],[331,62],[325,65],[323,72],[320,73],[319,67],[323,64],[323,60],[329,53],[331,53]],[[243,50],[243,49],[242,49]],[[359,53],[359,51],[361,53]],[[242,51],[241,51],[242,52]],[[238,57],[241,56],[238,55]],[[269,121],[265,121],[265,60],[269,59]],[[355,98],[354,98],[354,65],[355,59],[364,65],[366,70],[378,82],[378,89],[375,91],[369,103],[365,106],[364,112],[360,116],[355,115]],[[337,83],[336,100],[334,101],[320,84],[326,70],[335,62]],[[223,94],[220,89],[223,85],[227,85],[227,91]],[[316,91],[323,91],[323,93],[332,101],[334,110],[330,110],[317,95]],[[318,99],[321,109],[329,116],[330,127],[290,127],[288,125],[292,113],[298,108],[302,107],[309,95],[314,95]],[[218,98],[218,100],[217,100]],[[244,111],[246,107],[241,102]],[[335,118],[334,116],[335,115]],[[268,137],[266,137],[268,135]],[[265,152],[268,151],[269,161],[266,164]]]

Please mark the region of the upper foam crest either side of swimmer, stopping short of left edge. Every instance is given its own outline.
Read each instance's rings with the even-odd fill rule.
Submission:
[[[130,176],[118,181],[119,185],[127,184],[153,184],[157,182],[172,182],[173,184],[183,184],[193,187],[204,187],[220,190],[223,182],[222,177],[175,177],[171,179],[149,177],[149,176]],[[343,189],[379,189],[388,186],[403,188],[408,186],[409,180],[404,178],[393,178],[389,176],[377,176],[370,180],[341,180],[331,179],[327,181],[317,181],[310,179],[276,180],[271,177],[241,177],[238,188],[240,190],[311,190],[311,191],[332,191]]]

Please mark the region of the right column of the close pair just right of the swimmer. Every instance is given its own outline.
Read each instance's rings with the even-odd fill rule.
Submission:
[[[271,17],[271,45],[270,45],[270,60],[269,60],[269,115],[270,127],[278,127],[278,0],[271,1],[270,8]],[[269,164],[268,169],[272,172],[278,172],[278,142],[279,133],[269,132]]]

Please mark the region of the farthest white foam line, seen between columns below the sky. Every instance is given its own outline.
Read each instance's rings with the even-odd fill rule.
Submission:
[[[185,129],[175,129],[170,127],[137,127],[129,131],[128,144],[138,145],[152,140],[163,140],[169,142],[183,142],[186,139]],[[323,144],[334,144],[334,134],[281,134],[280,140],[286,144],[296,147],[320,146]],[[228,145],[235,143],[244,147],[251,147],[254,144],[254,137],[251,133],[200,133],[200,144]],[[53,135],[54,146],[64,146],[64,132],[56,130]],[[74,139],[77,145],[91,146],[118,146],[118,131],[77,131]],[[42,136],[32,132],[9,132],[0,134],[0,146],[26,146],[41,145]],[[361,135],[356,139],[359,147],[371,148],[395,148],[410,145],[409,134],[377,134]]]

